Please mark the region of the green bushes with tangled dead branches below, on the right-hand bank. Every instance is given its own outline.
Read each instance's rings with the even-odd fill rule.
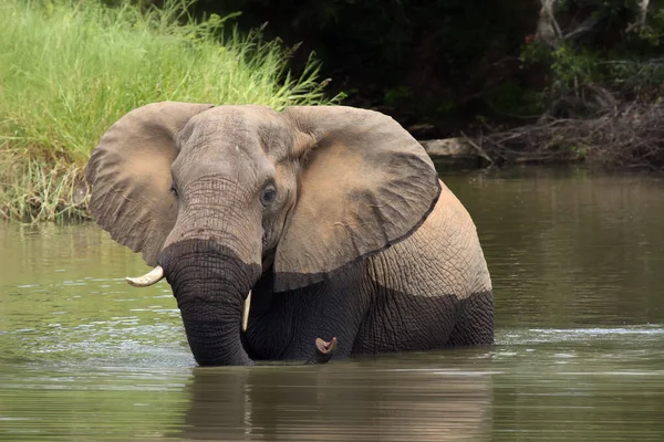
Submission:
[[[475,143],[497,161],[664,169],[661,7],[543,0],[520,56],[523,69],[544,74],[540,115],[516,128],[485,125]]]

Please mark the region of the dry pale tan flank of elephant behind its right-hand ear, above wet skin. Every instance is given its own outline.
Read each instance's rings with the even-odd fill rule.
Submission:
[[[406,240],[372,256],[371,277],[382,287],[418,296],[460,298],[491,290],[475,224],[442,183],[433,212]]]

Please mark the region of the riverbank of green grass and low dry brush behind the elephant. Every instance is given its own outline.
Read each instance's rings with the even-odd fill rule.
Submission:
[[[220,41],[226,19],[194,22],[183,7],[175,0],[148,10],[73,0],[0,3],[0,41],[11,42],[0,57],[0,219],[87,219],[87,158],[115,120],[144,104],[253,103],[280,109],[339,103],[339,96],[324,94],[325,82],[318,80],[319,64],[311,57],[293,78],[287,67],[292,51],[278,41],[266,42],[257,32],[227,32]],[[376,109],[394,115],[421,139],[440,169],[583,162],[662,170],[660,102],[602,97],[592,118],[543,116],[519,127],[478,124],[459,137],[433,140],[426,139],[430,125]]]

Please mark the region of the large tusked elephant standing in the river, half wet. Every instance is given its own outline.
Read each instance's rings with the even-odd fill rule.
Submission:
[[[96,222],[154,267],[127,281],[170,284],[199,366],[315,360],[317,338],[333,359],[494,343],[476,227],[382,113],[152,103],[86,180]]]

